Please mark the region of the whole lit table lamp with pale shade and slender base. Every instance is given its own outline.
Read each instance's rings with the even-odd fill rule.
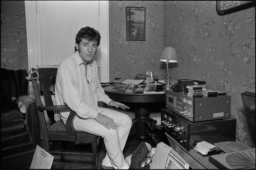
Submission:
[[[165,86],[163,86],[164,90],[171,89],[171,84],[169,82],[169,70],[168,70],[168,63],[177,63],[178,57],[176,54],[176,50],[173,47],[165,47],[163,49],[162,55],[161,55],[161,62],[166,62],[167,65],[167,83]]]

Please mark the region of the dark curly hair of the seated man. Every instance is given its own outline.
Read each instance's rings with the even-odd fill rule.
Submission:
[[[75,44],[79,44],[83,38],[87,39],[88,41],[96,41],[97,46],[100,45],[100,33],[94,28],[88,26],[81,28],[80,31],[76,34]],[[77,51],[76,48],[75,51]]]

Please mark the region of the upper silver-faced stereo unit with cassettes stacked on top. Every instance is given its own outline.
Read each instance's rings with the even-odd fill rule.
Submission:
[[[192,98],[166,90],[166,108],[191,122],[230,118],[231,96]]]

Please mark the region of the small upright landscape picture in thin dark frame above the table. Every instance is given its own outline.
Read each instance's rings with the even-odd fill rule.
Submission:
[[[126,6],[126,40],[145,41],[145,7]]]

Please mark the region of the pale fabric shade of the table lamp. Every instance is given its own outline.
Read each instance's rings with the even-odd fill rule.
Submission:
[[[161,62],[168,62],[168,63],[177,63],[178,62],[178,57],[177,57],[175,48],[165,47],[163,49],[160,61]]]

